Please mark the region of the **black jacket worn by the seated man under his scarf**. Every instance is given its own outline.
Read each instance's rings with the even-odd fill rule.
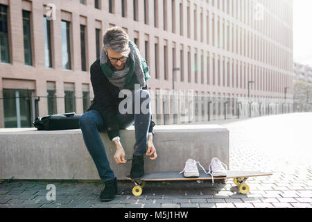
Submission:
[[[101,117],[103,118],[105,130],[107,131],[107,135],[110,137],[110,140],[117,136],[120,137],[116,114],[119,112],[119,103],[124,98],[118,97],[120,89],[115,85],[112,85],[112,83],[110,83],[110,81],[103,74],[100,59],[97,59],[91,65],[90,79],[94,92],[94,100],[87,111],[96,110],[100,112]],[[146,87],[143,87],[143,89],[148,90],[147,82]],[[148,132],[153,133],[153,135],[154,126],[155,122],[152,119],[152,115],[150,115],[150,128],[148,129]]]

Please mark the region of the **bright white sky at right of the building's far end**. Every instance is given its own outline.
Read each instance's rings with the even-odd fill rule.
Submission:
[[[312,67],[312,0],[293,0],[293,60]]]

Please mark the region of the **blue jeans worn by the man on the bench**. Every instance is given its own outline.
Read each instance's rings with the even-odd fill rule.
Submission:
[[[137,94],[137,96],[135,96]],[[129,98],[129,105],[132,106],[132,114],[125,113],[121,114],[117,112],[116,118],[119,123],[120,129],[128,128],[135,123],[135,145],[134,147],[134,155],[144,155],[146,153],[147,148],[147,139],[148,139],[148,129],[150,126],[150,102],[146,105],[146,109],[148,113],[144,114],[139,109],[139,113],[135,113],[135,97],[139,98],[139,107],[141,108],[141,104],[148,99],[150,101],[150,94],[147,90],[140,89],[132,94]],[[143,98],[141,98],[141,95]],[[145,102],[146,104],[146,102]],[[125,108],[127,108],[128,103],[126,103]],[[112,180],[115,178],[114,172],[110,168],[110,163],[107,159],[107,155],[105,152],[105,146],[100,137],[99,131],[104,131],[105,119],[101,117],[101,114],[96,110],[90,110],[85,112],[79,118],[79,126],[83,133],[83,140],[85,141],[85,146],[87,146],[87,150],[89,151],[94,164],[96,165],[96,169],[98,170],[98,174],[103,182]]]

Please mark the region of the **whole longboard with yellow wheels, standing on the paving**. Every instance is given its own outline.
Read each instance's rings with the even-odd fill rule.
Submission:
[[[135,187],[132,188],[132,194],[140,196],[146,181],[178,181],[178,180],[212,180],[211,175],[206,174],[204,171],[199,171],[199,177],[185,178],[180,171],[164,171],[145,173],[143,178],[132,179],[130,176],[126,176],[126,180],[132,180],[135,183]],[[272,173],[254,172],[254,171],[227,171],[226,177],[214,177],[214,180],[226,180],[234,179],[234,184],[238,186],[241,194],[248,194],[250,187],[245,184],[245,181],[250,177],[258,176],[271,176]]]

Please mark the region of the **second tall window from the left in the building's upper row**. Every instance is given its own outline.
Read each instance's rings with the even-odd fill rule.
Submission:
[[[24,58],[25,65],[33,65],[31,46],[31,12],[23,10]]]

